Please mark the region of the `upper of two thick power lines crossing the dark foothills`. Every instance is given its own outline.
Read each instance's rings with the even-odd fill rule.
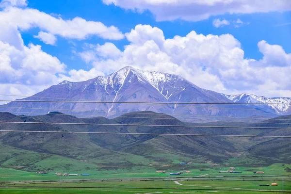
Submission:
[[[184,128],[235,128],[235,129],[291,129],[291,128],[270,128],[270,127],[236,127],[236,126],[193,126],[193,125],[142,125],[142,124],[105,124],[105,123],[54,123],[54,122],[18,122],[0,121],[9,124],[45,124],[45,125],[94,125],[94,126],[136,126],[136,127],[184,127]]]

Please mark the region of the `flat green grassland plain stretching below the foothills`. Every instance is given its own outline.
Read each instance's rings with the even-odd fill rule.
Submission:
[[[276,163],[267,167],[236,167],[242,174],[219,173],[221,170],[212,168],[191,168],[196,164],[187,164],[187,170],[191,174],[166,175],[155,172],[129,173],[120,171],[96,171],[96,172],[69,172],[90,173],[90,176],[60,176],[49,174],[36,174],[14,169],[0,169],[0,192],[1,194],[17,193],[79,193],[99,194],[114,193],[204,193],[221,192],[224,194],[239,193],[274,193],[291,192],[291,173],[289,164]],[[218,168],[218,167],[215,167]],[[253,171],[264,171],[264,174],[253,174]],[[259,186],[259,184],[270,184],[276,182],[278,186]],[[158,189],[157,189],[158,188]],[[176,188],[176,189],[175,189]],[[270,191],[270,192],[269,192]]]

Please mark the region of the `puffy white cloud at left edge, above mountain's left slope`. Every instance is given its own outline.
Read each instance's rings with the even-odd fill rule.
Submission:
[[[15,28],[0,32],[0,90],[10,95],[32,95],[61,81],[66,65],[49,55],[41,46],[25,46]],[[9,97],[9,99],[12,99]]]

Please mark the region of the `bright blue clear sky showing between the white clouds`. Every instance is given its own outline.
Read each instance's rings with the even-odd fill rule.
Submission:
[[[255,14],[226,14],[219,16],[226,20],[237,20],[250,22],[249,25],[242,28],[235,28],[234,26],[225,26],[223,28],[215,28],[212,26],[212,21],[217,16],[211,16],[209,19],[189,22],[183,20],[174,21],[160,21],[155,20],[155,16],[146,11],[145,13],[137,13],[130,10],[125,10],[114,5],[105,5],[100,0],[29,0],[29,7],[38,9],[48,14],[61,15],[63,19],[73,19],[76,16],[82,17],[86,20],[101,21],[106,26],[116,26],[121,32],[129,32],[134,26],[138,24],[149,24],[160,28],[165,35],[165,38],[173,38],[175,35],[185,36],[191,31],[202,34],[224,34],[230,33],[237,38],[244,48],[245,57],[260,59],[262,54],[259,52],[257,44],[260,40],[266,40],[270,44],[281,45],[287,53],[291,52],[291,12],[273,12],[273,13],[255,13]],[[289,23],[290,25],[275,26]],[[65,64],[72,68],[87,68],[85,63],[78,57],[72,55],[70,47],[74,47],[67,40],[58,40],[58,47],[43,44],[40,40],[33,38],[37,30],[31,30],[23,33],[25,44],[30,42],[40,44],[43,50],[57,56]],[[284,37],[284,38],[282,38]],[[106,40],[91,37],[89,40],[74,41],[77,45],[74,48],[80,49],[82,44],[90,42],[92,44],[103,44]],[[124,40],[113,41],[119,49],[123,49],[124,45],[129,42]],[[71,57],[74,57],[71,59]]]

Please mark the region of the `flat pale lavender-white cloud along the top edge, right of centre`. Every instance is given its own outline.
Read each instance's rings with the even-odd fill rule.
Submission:
[[[102,0],[124,9],[151,11],[156,20],[200,21],[224,14],[290,11],[290,0]]]

